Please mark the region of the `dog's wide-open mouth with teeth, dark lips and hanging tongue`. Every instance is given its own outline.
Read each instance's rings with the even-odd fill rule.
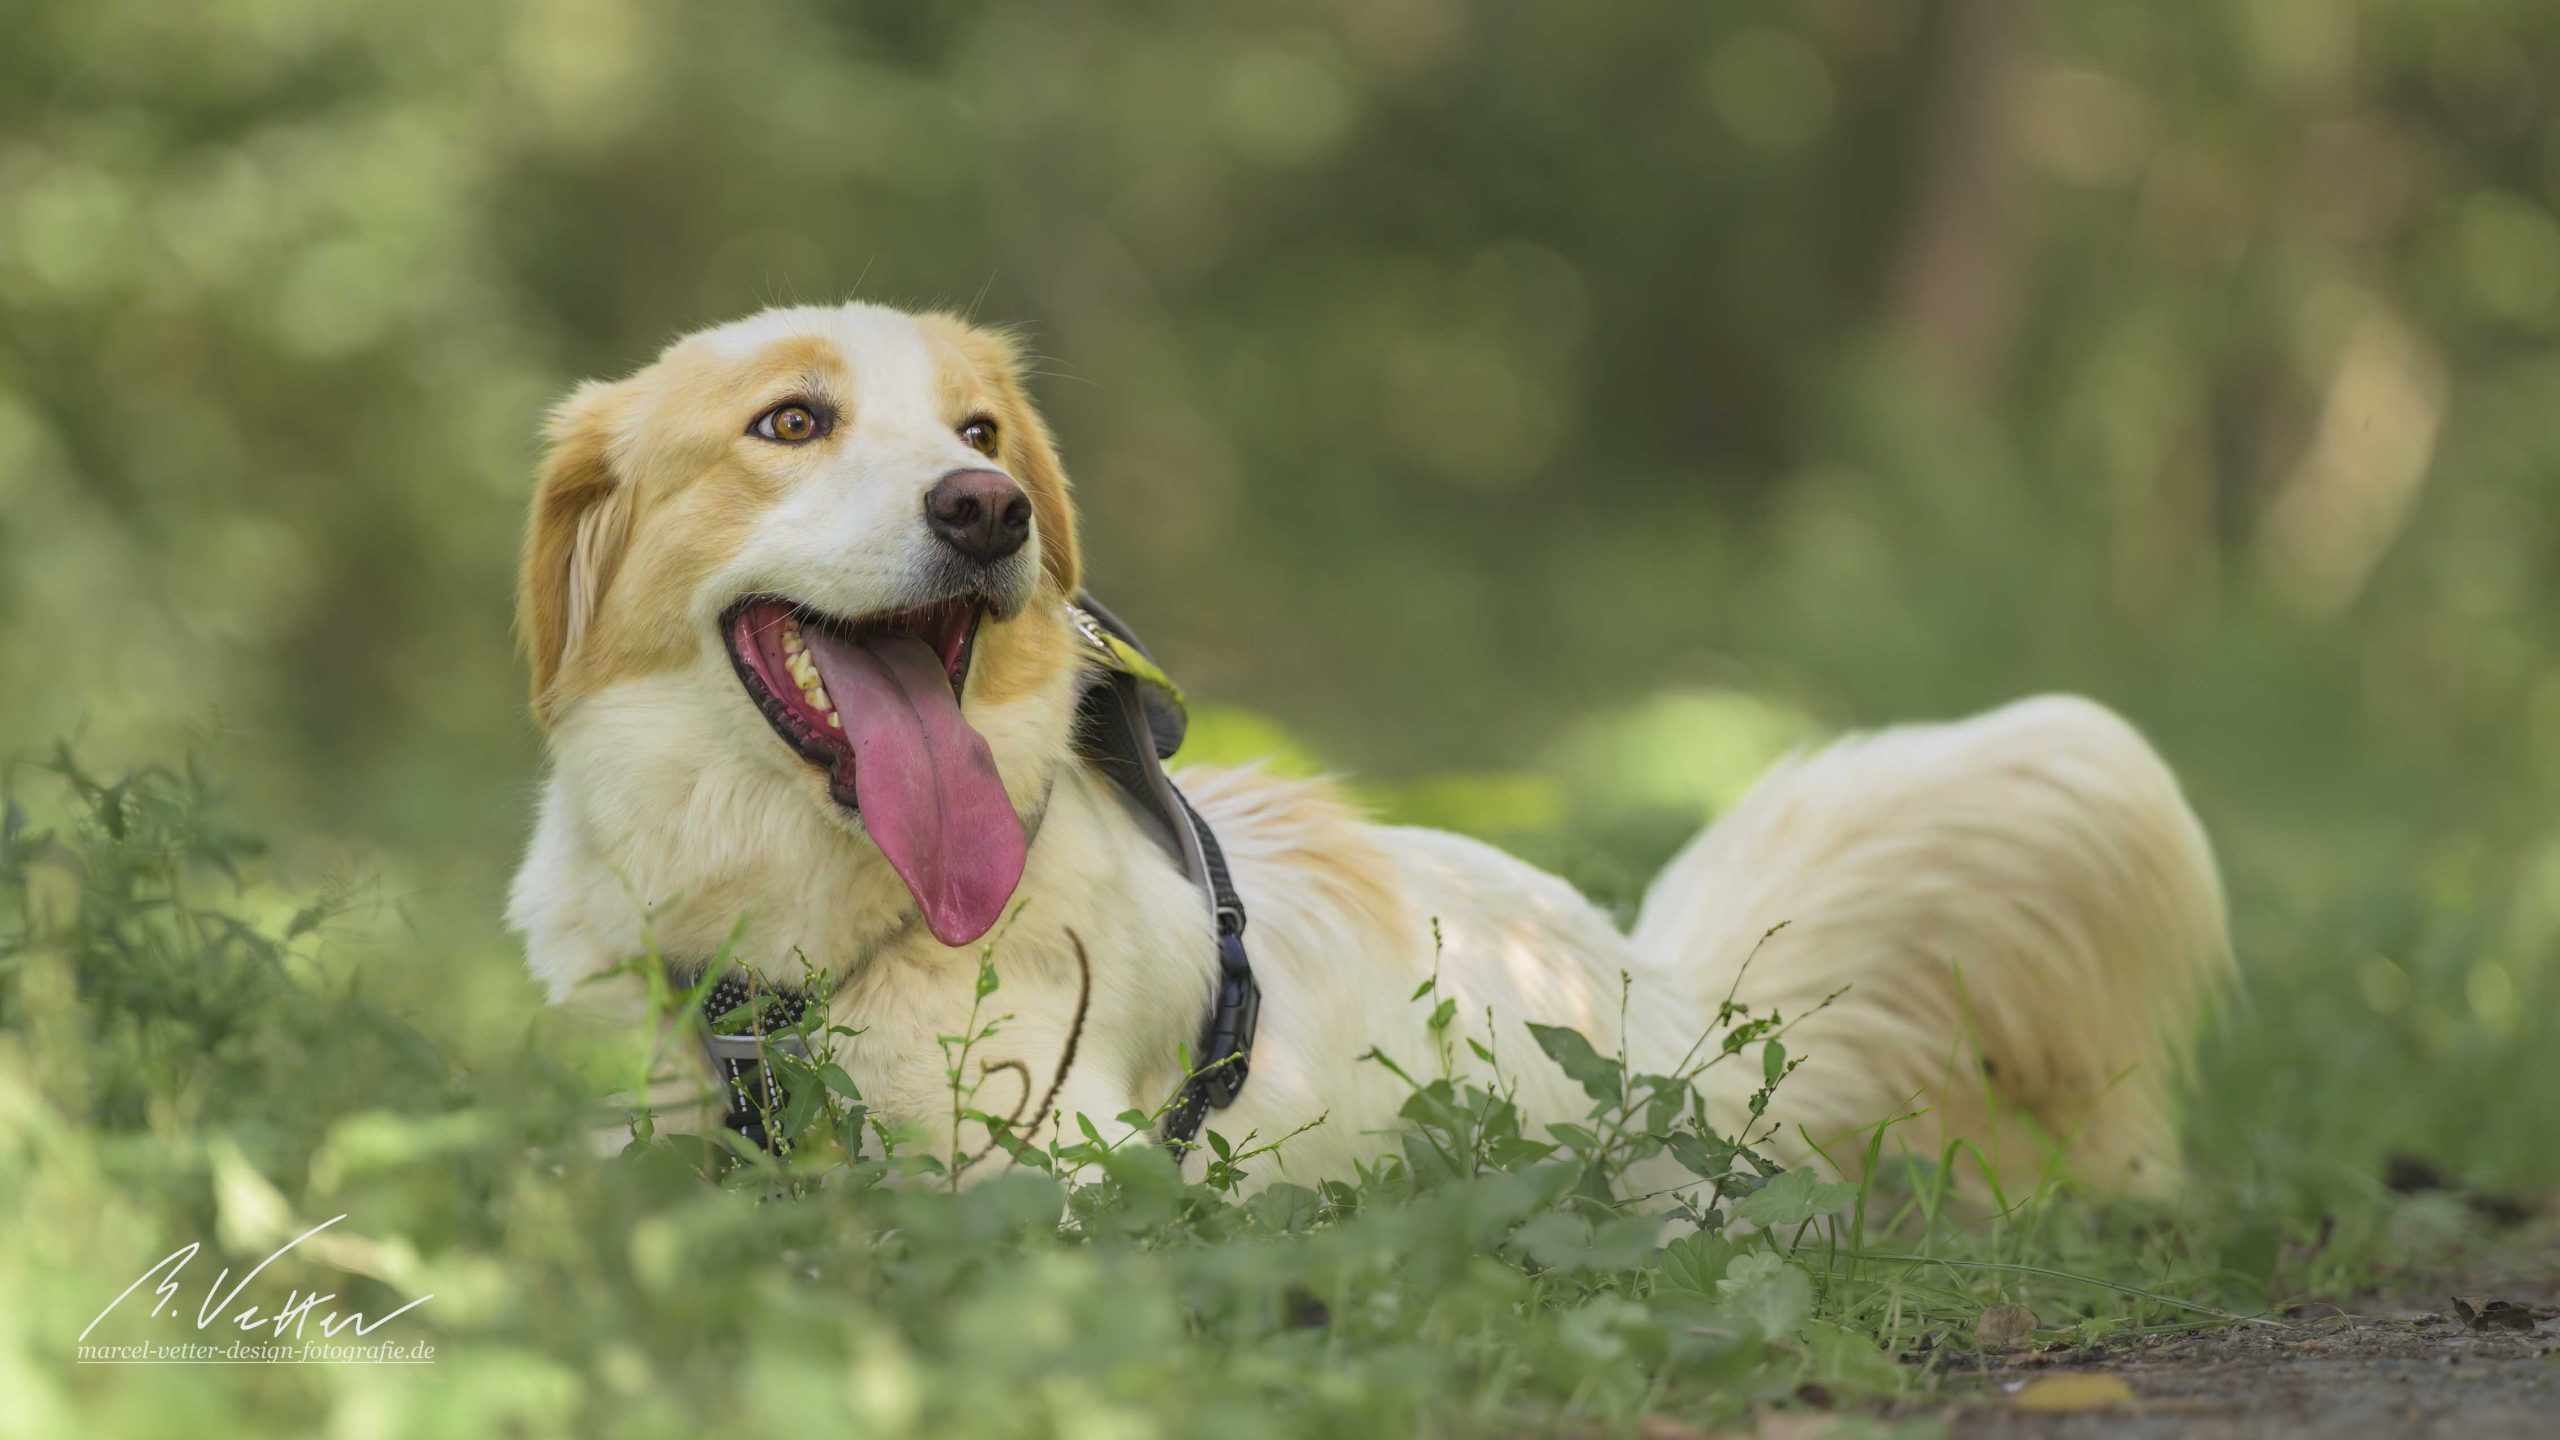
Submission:
[[[983,618],[970,597],[860,620],[753,597],[722,620],[748,697],[863,815],[945,945],[996,925],[1024,863],[996,756],[960,715]]]

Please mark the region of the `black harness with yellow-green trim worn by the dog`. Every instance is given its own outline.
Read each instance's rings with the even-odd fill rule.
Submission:
[[[1180,1094],[1157,1122],[1157,1140],[1180,1163],[1198,1145],[1208,1112],[1226,1109],[1244,1092],[1254,1051],[1262,986],[1254,984],[1254,966],[1244,953],[1244,899],[1236,894],[1234,876],[1226,874],[1226,853],[1219,848],[1216,833],[1165,776],[1165,761],[1183,746],[1188,723],[1180,687],[1155,664],[1137,633],[1093,597],[1078,594],[1068,618],[1075,623],[1088,659],[1085,692],[1075,705],[1075,753],[1152,822],[1157,843],[1201,889],[1216,922],[1219,989],[1208,1020],[1201,1025],[1190,1074],[1183,1076]],[[778,1156],[788,1140],[773,1130],[773,1117],[791,1097],[765,1056],[781,1051],[799,1061],[809,1058],[799,1033],[809,997],[786,986],[763,986],[732,971],[712,984],[701,1012],[719,1020],[740,1010],[748,1015],[745,1030],[707,1035],[712,1068],[727,1092],[727,1115],[719,1122],[750,1145]]]

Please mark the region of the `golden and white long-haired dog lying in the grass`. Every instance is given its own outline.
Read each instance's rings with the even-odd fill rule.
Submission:
[[[860,1027],[837,1058],[876,1112],[947,1145],[937,1038],[968,1025],[980,938],[1014,1020],[973,1066],[1047,1079],[1078,1004],[1073,930],[1091,1015],[1052,1125],[1119,1135],[1111,1117],[1157,1109],[1216,943],[1070,748],[1075,510],[1011,343],[876,305],[768,310],[581,387],[550,443],[520,623],[553,766],[509,920],[553,997],[650,943],[707,958],[742,925],[740,963],[832,976]],[[1403,1086],[1362,1056],[1439,1071],[1413,1004],[1434,969],[1454,1038],[1503,1056],[1536,1122],[1587,1102],[1523,1022],[1664,1071],[1741,974],[1743,1002],[1802,1017],[1805,1066],[1769,1117],[1787,1158],[1920,1109],[1902,1145],[1971,1140],[2010,1184],[2056,1156],[2109,1189],[2179,1176],[2173,1092],[2230,971],[2222,892],[2171,774],[2092,702],[1784,764],[1664,869],[1633,933],[1324,784],[1178,779],[1226,846],[1262,984],[1252,1081],[1208,1125],[1321,1117],[1283,1153],[1295,1179],[1395,1145]],[[1708,1081],[1728,1135],[1759,1081],[1725,1084],[1738,1068]]]

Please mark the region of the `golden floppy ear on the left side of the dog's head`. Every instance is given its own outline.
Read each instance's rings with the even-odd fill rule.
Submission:
[[[561,676],[579,661],[604,587],[630,543],[632,492],[614,474],[622,392],[589,382],[550,413],[550,454],[532,487],[515,625],[532,661],[532,717],[550,725]]]

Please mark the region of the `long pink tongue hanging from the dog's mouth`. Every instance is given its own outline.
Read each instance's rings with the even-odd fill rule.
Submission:
[[[863,828],[937,940],[986,935],[1021,884],[1021,817],[996,756],[960,717],[942,659],[914,635],[842,641],[822,630],[809,630],[809,656],[852,740]],[[842,766],[835,784],[842,794]]]

